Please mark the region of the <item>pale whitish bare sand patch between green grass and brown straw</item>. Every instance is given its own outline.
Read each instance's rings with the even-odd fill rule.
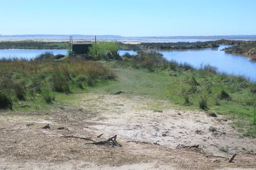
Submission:
[[[200,147],[209,154],[230,155],[256,151],[256,140],[241,138],[232,128],[231,121],[223,115],[208,116],[199,111],[177,111],[164,101],[160,101],[163,112],[154,112],[151,99],[120,95],[86,94],[80,106],[101,113],[102,118],[92,119],[91,126],[98,134],[106,136],[118,134],[123,140],[157,142],[166,147],[175,148],[178,144]],[[216,127],[210,132],[209,127]],[[223,147],[227,153],[219,151]]]

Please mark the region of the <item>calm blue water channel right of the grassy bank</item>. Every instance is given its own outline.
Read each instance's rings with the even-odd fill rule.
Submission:
[[[177,62],[187,62],[197,68],[201,64],[210,64],[216,66],[219,71],[229,75],[243,75],[256,82],[256,62],[249,61],[249,58],[241,55],[226,54],[221,51],[230,45],[221,45],[218,48],[205,48],[200,50],[180,50],[180,51],[163,51],[167,60],[176,60]]]

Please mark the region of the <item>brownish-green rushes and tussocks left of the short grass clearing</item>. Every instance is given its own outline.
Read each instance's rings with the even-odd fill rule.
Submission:
[[[115,73],[102,64],[75,57],[60,61],[0,59],[0,72],[1,108],[11,107],[12,103],[16,105],[18,100],[31,99],[36,102],[40,95],[35,96],[41,93],[41,89],[70,93],[71,88],[75,88],[72,86],[74,83],[82,88],[86,83],[95,85],[115,77]],[[49,101],[48,93],[42,93]]]

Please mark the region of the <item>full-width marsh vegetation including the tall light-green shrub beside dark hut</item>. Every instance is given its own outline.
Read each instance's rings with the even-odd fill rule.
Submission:
[[[31,109],[44,108],[68,98],[65,95],[86,92],[84,89],[115,91],[119,87],[168,100],[182,109],[227,114],[243,136],[256,137],[255,83],[222,74],[210,65],[195,69],[188,63],[167,61],[157,52],[141,51],[121,58],[118,48],[117,42],[93,44],[91,60],[56,60],[59,57],[49,53],[30,61],[2,59],[1,108],[17,109],[21,103],[35,106]],[[127,81],[108,81],[115,75]]]

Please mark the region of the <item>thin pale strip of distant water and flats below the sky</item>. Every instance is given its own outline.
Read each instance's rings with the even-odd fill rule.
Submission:
[[[42,42],[69,42],[70,35],[0,35],[0,41],[42,41]],[[95,41],[94,35],[72,35],[73,41]],[[119,35],[97,35],[98,41],[119,42],[196,42],[227,40],[256,40],[256,35],[228,35],[228,36],[148,36],[122,37]]]

